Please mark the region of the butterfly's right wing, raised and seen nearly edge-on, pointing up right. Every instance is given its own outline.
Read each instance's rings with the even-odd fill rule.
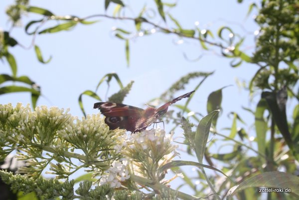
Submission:
[[[141,118],[141,120],[137,121],[137,131],[142,130],[147,128],[150,124],[154,123],[155,121],[157,121],[162,115],[164,115],[167,112],[168,107],[171,104],[174,104],[175,102],[183,99],[183,98],[187,98],[190,97],[190,95],[195,92],[195,90],[193,90],[192,92],[188,92],[186,94],[183,94],[179,97],[176,97],[175,99],[165,103],[164,105],[160,106],[157,109],[154,108],[147,108],[144,111],[144,117]]]

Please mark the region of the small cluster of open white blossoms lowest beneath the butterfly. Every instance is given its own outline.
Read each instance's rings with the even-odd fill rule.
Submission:
[[[100,185],[109,184],[111,188],[120,188],[122,186],[121,182],[130,179],[127,166],[128,161],[125,159],[113,161],[111,167],[102,175]]]

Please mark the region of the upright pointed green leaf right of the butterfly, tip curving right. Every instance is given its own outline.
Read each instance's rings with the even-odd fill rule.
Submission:
[[[202,164],[212,120],[218,113],[219,110],[212,111],[207,116],[202,118],[197,126],[194,146],[195,146],[195,154],[200,164]]]

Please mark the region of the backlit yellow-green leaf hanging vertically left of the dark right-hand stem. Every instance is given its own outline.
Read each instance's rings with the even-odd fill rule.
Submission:
[[[266,148],[266,132],[268,130],[267,123],[264,120],[264,112],[267,109],[267,102],[261,99],[257,105],[255,112],[255,128],[257,134],[258,150],[265,154]]]

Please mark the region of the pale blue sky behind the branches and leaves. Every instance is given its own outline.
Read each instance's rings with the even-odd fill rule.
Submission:
[[[13,0],[0,1],[0,28],[7,30],[9,22],[4,14],[5,8]],[[153,1],[125,1],[130,6],[126,10],[128,15],[136,16],[145,3],[155,8]],[[233,28],[241,36],[246,36],[242,50],[251,55],[254,50],[254,31],[258,26],[254,23],[255,10],[246,18],[249,4],[242,4],[236,0],[188,0],[177,1],[177,7],[170,10],[181,25],[188,29],[193,28],[198,21],[200,29],[208,28],[217,35],[217,30],[223,25]],[[58,15],[77,15],[84,17],[92,14],[104,13],[104,0],[31,0],[31,5],[44,7]],[[113,11],[112,5],[108,14]],[[26,24],[30,20],[38,19],[38,15],[29,13],[22,19]],[[40,47],[43,56],[47,59],[52,55],[48,64],[37,61],[34,49],[14,47],[10,51],[15,56],[18,72],[17,75],[27,75],[41,86],[44,95],[38,105],[57,106],[70,108],[70,113],[83,116],[79,108],[78,97],[85,90],[94,90],[99,80],[107,73],[116,72],[124,85],[134,80],[132,91],[125,98],[124,103],[141,108],[146,108],[145,103],[158,97],[167,90],[176,80],[189,72],[202,71],[215,73],[196,91],[190,102],[190,108],[195,112],[206,115],[206,102],[208,95],[226,85],[233,85],[223,90],[223,113],[218,120],[219,128],[230,127],[232,122],[227,117],[231,111],[242,112],[243,119],[250,126],[253,123],[251,114],[244,112],[242,106],[254,108],[256,102],[250,102],[248,92],[238,88],[236,78],[240,81],[249,81],[257,70],[252,64],[242,64],[238,68],[230,67],[230,59],[219,56],[220,50],[204,51],[199,42],[183,40],[182,44],[176,42],[180,39],[176,35],[166,35],[156,32],[149,36],[134,37],[130,41],[130,66],[127,67],[125,58],[125,42],[113,36],[113,27],[134,29],[132,21],[108,20],[95,18],[100,22],[92,25],[78,25],[71,31],[54,34],[37,35],[36,44]],[[158,16],[152,19],[161,26],[174,27],[167,18],[164,24]],[[51,23],[52,25],[55,23]],[[50,25],[50,24],[49,24]],[[47,25],[46,25],[47,26]],[[46,27],[45,26],[45,27]],[[150,25],[145,27],[152,28]],[[246,31],[245,31],[245,30]],[[137,33],[135,33],[137,35]],[[11,36],[15,37],[24,46],[29,46],[31,36],[24,33],[22,28],[14,28]],[[202,55],[196,62],[184,58],[195,59]],[[1,62],[1,73],[10,73],[8,64]],[[185,91],[180,91],[177,96],[192,91],[199,80],[193,80],[187,85]],[[114,82],[115,83],[115,82]],[[100,87],[98,95],[105,99],[106,87]],[[109,95],[119,90],[117,84],[111,83]],[[109,96],[108,95],[108,96]],[[2,104],[17,102],[30,103],[30,95],[16,93],[0,95]],[[93,109],[94,99],[83,99],[87,114],[98,113]],[[179,103],[179,102],[177,102]],[[173,108],[169,108],[171,110]],[[254,135],[252,128],[250,135]],[[177,131],[181,134],[181,130]]]

